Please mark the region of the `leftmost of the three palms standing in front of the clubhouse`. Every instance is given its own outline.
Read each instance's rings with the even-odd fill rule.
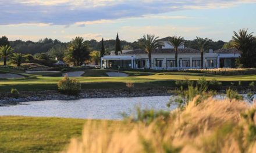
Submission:
[[[151,69],[151,53],[157,49],[159,46],[163,46],[163,43],[158,42],[157,39],[159,37],[155,37],[155,35],[144,35],[143,38],[139,39],[140,45],[145,51],[148,53],[148,60],[150,61],[150,69]]]

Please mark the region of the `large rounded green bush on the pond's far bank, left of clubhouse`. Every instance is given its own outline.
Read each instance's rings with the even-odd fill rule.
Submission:
[[[77,96],[81,92],[81,83],[65,75],[65,77],[58,82],[58,90],[63,94]]]

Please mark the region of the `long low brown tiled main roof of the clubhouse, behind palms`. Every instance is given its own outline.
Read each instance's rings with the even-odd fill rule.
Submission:
[[[184,48],[184,49],[178,49],[178,53],[179,54],[200,53],[200,51],[192,48]],[[145,52],[144,49],[135,49],[123,54],[147,54],[147,52]],[[175,54],[175,50],[174,49],[155,49],[154,52],[152,52],[152,54]]]

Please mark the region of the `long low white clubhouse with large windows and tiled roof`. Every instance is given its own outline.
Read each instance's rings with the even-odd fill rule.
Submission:
[[[164,46],[152,52],[152,69],[177,70],[201,68],[201,53],[199,50],[185,48],[178,49],[178,67],[175,67],[175,50],[169,45],[168,38],[159,39]],[[208,50],[204,53],[204,68],[234,68],[234,63],[240,57],[237,49]],[[149,68],[148,54],[144,49],[122,50],[117,56],[112,51],[111,55],[101,57],[101,68]]]

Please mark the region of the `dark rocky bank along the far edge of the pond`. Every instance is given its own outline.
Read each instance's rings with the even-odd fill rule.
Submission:
[[[10,93],[0,93],[0,106],[16,105],[27,101],[44,100],[76,100],[91,98],[112,98],[112,97],[145,97],[145,96],[170,96],[170,89],[97,89],[83,90],[79,96],[67,96],[57,90],[26,91],[20,92],[15,98]]]

